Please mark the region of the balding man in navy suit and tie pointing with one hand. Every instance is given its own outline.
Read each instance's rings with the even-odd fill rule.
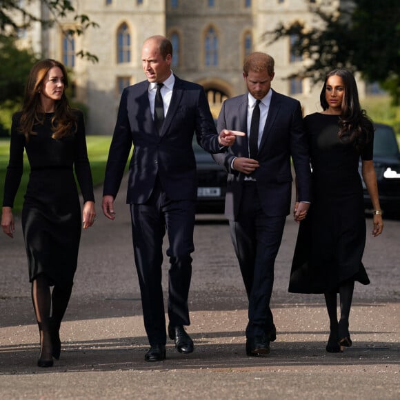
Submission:
[[[143,319],[150,342],[146,361],[166,358],[166,318],[161,286],[163,237],[168,232],[170,257],[168,334],[179,352],[193,351],[183,326],[190,325],[188,292],[194,251],[197,197],[194,132],[208,152],[231,146],[235,136],[217,134],[203,88],[172,74],[172,45],[154,36],[141,54],[147,80],[121,95],[103,188],[103,213],[115,218],[124,168],[130,160],[127,203],[130,204],[134,261],[139,276]]]

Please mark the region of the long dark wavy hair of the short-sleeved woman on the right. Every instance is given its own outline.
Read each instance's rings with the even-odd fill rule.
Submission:
[[[366,110],[361,109],[357,83],[349,70],[337,68],[326,75],[319,96],[321,107],[323,110],[329,108],[328,101],[326,101],[326,82],[328,78],[335,75],[341,77],[344,86],[341,116],[339,118],[339,138],[342,141],[353,143],[357,150],[361,150],[372,139],[374,128],[372,121],[367,117]]]

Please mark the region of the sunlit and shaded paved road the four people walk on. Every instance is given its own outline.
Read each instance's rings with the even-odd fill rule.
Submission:
[[[228,225],[220,215],[199,215],[188,327],[195,351],[184,356],[169,341],[166,361],[146,363],[124,192],[112,222],[101,214],[97,190],[99,216],[82,235],[63,350],[53,368],[36,366],[38,332],[19,221],[13,240],[0,236],[0,399],[400,399],[400,221],[385,221],[379,238],[368,236],[364,263],[372,283],[356,286],[354,344],[329,354],[323,297],[287,292],[297,234],[289,217],[272,299],[278,337],[268,357],[254,359],[244,351],[247,301]]]

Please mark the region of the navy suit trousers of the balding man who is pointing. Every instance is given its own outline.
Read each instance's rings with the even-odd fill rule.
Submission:
[[[168,199],[159,179],[150,199],[130,204],[134,261],[136,263],[143,319],[150,345],[166,343],[163,303],[163,237],[168,234],[168,317],[172,326],[190,325],[188,294],[192,277],[195,201]]]

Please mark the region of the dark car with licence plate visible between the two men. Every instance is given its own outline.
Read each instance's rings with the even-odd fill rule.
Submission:
[[[197,212],[222,213],[225,204],[227,173],[214,161],[211,154],[199,146],[193,138],[193,150],[197,163]]]

